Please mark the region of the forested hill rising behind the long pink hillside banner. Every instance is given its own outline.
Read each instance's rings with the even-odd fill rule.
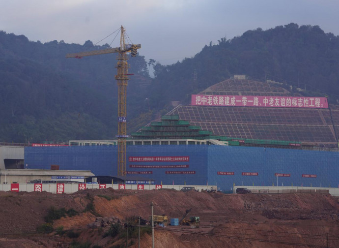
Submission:
[[[168,66],[156,64],[154,69],[151,107],[174,99],[190,102],[191,93],[235,74],[283,82],[294,89],[306,87],[311,92],[305,94],[329,95],[334,102],[339,99],[339,36],[318,26],[293,23],[266,31],[256,29],[232,39],[221,38],[192,58]]]

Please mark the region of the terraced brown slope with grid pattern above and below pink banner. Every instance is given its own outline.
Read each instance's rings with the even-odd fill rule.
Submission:
[[[300,96],[277,83],[228,79],[199,94]],[[339,106],[322,108],[270,108],[179,105],[167,115],[200,126],[214,135],[241,139],[289,140],[338,148]],[[331,119],[332,115],[332,119]]]

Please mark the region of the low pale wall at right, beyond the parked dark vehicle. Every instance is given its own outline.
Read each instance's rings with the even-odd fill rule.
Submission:
[[[311,194],[331,194],[339,196],[339,188],[323,188],[323,187],[293,187],[293,186],[234,186],[233,193],[237,188],[251,190],[253,194],[288,194],[288,193],[311,193]]]

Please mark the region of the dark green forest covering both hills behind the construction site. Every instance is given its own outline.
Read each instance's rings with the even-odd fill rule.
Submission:
[[[89,40],[84,45],[42,44],[0,31],[0,142],[112,139],[117,129],[115,55],[65,59],[67,53],[108,46]],[[147,88],[131,76],[128,133],[169,111],[170,101],[189,102],[190,94],[234,74],[339,98],[339,36],[318,26],[291,23],[246,31],[167,66],[143,56],[129,63],[131,73],[145,78],[153,65],[155,78]]]

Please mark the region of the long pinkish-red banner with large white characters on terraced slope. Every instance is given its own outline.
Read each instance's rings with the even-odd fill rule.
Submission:
[[[326,97],[261,95],[192,95],[194,106],[328,108]]]

